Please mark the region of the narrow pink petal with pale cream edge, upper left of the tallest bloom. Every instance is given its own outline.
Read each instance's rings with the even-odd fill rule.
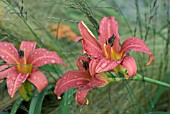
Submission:
[[[97,42],[95,36],[92,34],[92,32],[88,29],[88,27],[82,21],[78,24],[78,27],[79,27],[79,30],[80,30],[80,33],[83,39],[88,40],[93,45],[100,48],[100,44]]]

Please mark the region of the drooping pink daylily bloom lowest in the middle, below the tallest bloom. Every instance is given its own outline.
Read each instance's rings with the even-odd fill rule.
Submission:
[[[78,88],[76,93],[76,102],[79,105],[88,104],[85,99],[87,93],[99,86],[104,86],[108,83],[108,78],[104,73],[95,73],[95,67],[98,64],[98,59],[85,58],[80,56],[77,60],[79,70],[68,71],[58,80],[55,87],[55,94],[58,99],[61,99],[61,94],[70,88]]]

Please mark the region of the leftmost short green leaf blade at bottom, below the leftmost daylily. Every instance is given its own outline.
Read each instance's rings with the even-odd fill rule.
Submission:
[[[19,97],[19,98],[15,101],[15,103],[14,103],[14,105],[13,105],[13,107],[12,107],[12,110],[11,110],[10,114],[16,114],[16,112],[17,112],[20,104],[22,103],[22,101],[23,101],[23,99],[22,99],[21,97]]]

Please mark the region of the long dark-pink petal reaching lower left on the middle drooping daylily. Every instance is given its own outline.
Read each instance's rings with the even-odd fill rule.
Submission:
[[[54,93],[61,99],[61,94],[70,88],[81,88],[89,82],[89,75],[83,71],[68,71],[57,81]]]

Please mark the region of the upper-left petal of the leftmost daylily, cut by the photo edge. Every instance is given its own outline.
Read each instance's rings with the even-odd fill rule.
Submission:
[[[9,64],[18,63],[18,51],[12,43],[0,42],[0,57]]]

